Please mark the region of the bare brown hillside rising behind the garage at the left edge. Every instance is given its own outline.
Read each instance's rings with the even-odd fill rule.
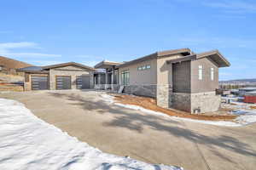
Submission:
[[[0,56],[0,65],[3,65],[6,69],[19,69],[26,66],[32,66],[16,59],[9,59],[7,57]]]

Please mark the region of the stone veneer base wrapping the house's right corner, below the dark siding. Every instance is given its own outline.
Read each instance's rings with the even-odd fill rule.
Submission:
[[[220,95],[216,95],[215,92],[200,94],[172,93],[170,106],[174,109],[191,113],[195,113],[197,109],[200,109],[200,113],[218,111]]]

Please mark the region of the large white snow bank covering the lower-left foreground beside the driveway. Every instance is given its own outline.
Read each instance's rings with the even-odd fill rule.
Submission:
[[[0,169],[4,170],[182,169],[103,153],[38,119],[24,105],[9,99],[0,99],[0,139]]]

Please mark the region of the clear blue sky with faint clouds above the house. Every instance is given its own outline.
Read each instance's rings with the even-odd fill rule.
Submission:
[[[0,55],[33,65],[218,49],[220,80],[256,78],[254,0],[1,0]]]

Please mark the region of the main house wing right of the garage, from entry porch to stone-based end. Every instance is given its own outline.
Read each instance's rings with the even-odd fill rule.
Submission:
[[[96,88],[153,97],[157,105],[182,111],[218,111],[218,68],[230,66],[218,50],[194,54],[189,48],[149,54],[129,62],[102,61],[95,66]]]

